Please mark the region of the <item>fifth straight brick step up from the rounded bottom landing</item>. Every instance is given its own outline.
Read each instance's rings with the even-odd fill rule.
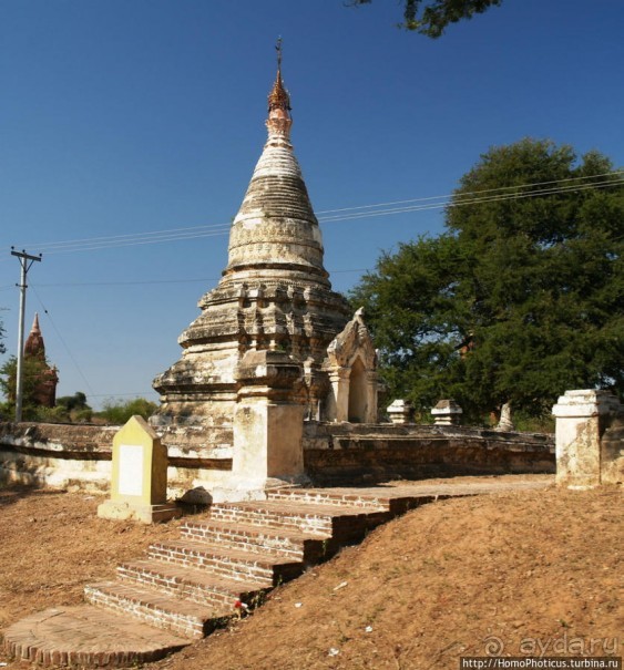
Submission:
[[[337,540],[357,540],[367,529],[390,518],[388,512],[362,512],[358,507],[311,505],[283,501],[218,503],[211,507],[211,519],[231,524],[252,524],[272,528],[291,528],[314,536],[334,536]]]

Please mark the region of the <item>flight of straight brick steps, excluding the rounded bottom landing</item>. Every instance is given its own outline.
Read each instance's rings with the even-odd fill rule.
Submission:
[[[323,491],[276,491],[254,503],[213,505],[175,542],[117,567],[117,580],[88,586],[86,600],[156,628],[197,639],[238,600],[253,608],[275,586],[298,577],[392,516],[389,501]]]

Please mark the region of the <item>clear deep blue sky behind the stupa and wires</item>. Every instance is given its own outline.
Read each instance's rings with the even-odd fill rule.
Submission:
[[[156,398],[227,234],[50,244],[223,230],[265,141],[277,35],[317,213],[449,194],[490,146],[525,136],[624,165],[622,0],[504,0],[436,41],[398,30],[400,13],[396,0],[0,0],[0,362],[17,349],[14,245],[44,251],[27,329],[39,311],[59,394]],[[442,227],[439,209],[323,224],[334,287]]]

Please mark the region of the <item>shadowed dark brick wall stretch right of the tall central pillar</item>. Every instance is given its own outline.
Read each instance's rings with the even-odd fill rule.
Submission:
[[[552,435],[452,425],[308,423],[304,461],[319,485],[555,471]]]

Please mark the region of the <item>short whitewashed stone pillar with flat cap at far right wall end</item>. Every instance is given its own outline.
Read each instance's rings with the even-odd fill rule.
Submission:
[[[622,405],[608,391],[566,391],[554,405],[556,483],[569,488],[601,484],[601,437]]]

